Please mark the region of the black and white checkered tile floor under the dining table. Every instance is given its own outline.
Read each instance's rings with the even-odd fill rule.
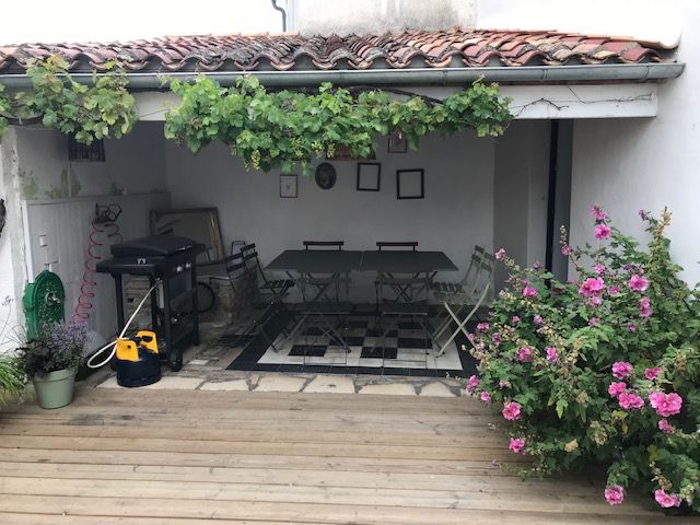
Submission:
[[[471,358],[458,350],[459,341],[438,355],[440,347],[430,334],[410,320],[380,327],[373,314],[352,314],[339,331],[348,349],[324,335],[318,320],[310,317],[293,338],[282,341],[280,336],[276,348],[246,347],[229,369],[444,376],[463,375],[471,368]]]

